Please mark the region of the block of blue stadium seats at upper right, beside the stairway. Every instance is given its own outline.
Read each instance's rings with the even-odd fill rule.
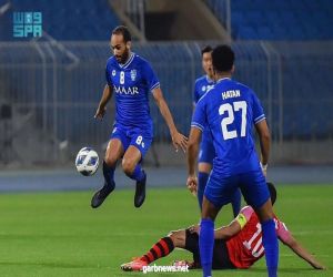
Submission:
[[[210,0],[209,6],[221,21],[224,1]],[[218,8],[216,8],[218,7]],[[223,22],[225,23],[225,22]],[[248,24],[248,28],[244,25]],[[310,27],[309,27],[310,25]],[[332,0],[233,0],[231,28],[240,40],[330,40],[333,25]],[[249,30],[249,29],[254,30]],[[268,29],[272,30],[272,35]]]

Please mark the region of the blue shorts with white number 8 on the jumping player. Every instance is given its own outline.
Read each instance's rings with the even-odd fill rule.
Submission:
[[[130,145],[135,146],[141,153],[141,158],[144,157],[152,143],[150,132],[137,127],[125,129],[119,125],[114,125],[110,138],[119,138],[124,152]]]

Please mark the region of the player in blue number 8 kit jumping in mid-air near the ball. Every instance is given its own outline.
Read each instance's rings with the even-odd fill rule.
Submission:
[[[147,181],[141,162],[153,137],[150,94],[169,126],[175,151],[179,147],[185,151],[188,138],[178,132],[150,63],[131,51],[131,33],[127,27],[119,25],[112,31],[111,50],[113,57],[105,69],[107,85],[94,116],[103,117],[107,103],[115,93],[115,122],[103,161],[104,185],[93,195],[91,206],[99,207],[114,189],[114,170],[122,157],[123,172],[137,181],[134,206],[140,207],[145,198]]]

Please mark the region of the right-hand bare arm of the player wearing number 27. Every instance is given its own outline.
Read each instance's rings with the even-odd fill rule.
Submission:
[[[259,134],[260,150],[261,150],[261,164],[264,175],[266,174],[266,166],[270,157],[271,134],[268,122],[262,120],[255,124],[255,130]]]

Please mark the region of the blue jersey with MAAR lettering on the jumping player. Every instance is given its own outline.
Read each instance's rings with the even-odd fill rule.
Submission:
[[[152,133],[149,93],[159,88],[160,82],[149,62],[135,53],[131,53],[124,64],[111,57],[105,78],[115,94],[115,123]]]

